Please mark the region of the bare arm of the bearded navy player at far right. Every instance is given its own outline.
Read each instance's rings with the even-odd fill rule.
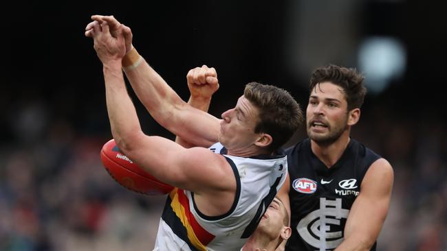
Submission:
[[[345,226],[345,237],[336,251],[370,250],[388,213],[393,169],[384,158],[369,167]]]

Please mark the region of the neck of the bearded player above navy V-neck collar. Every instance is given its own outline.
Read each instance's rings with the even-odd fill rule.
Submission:
[[[350,140],[349,130],[343,132],[336,141],[330,144],[319,144],[311,140],[312,152],[329,168],[337,163]]]

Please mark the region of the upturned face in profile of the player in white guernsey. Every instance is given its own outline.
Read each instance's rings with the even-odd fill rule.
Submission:
[[[254,133],[259,110],[246,97],[239,97],[235,108],[222,113],[219,141],[232,152],[241,152],[252,146],[259,138]]]

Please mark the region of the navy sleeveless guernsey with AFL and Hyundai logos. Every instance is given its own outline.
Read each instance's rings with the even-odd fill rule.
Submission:
[[[312,152],[309,139],[288,148],[286,154],[292,237],[285,250],[334,250],[343,240],[364,174],[381,157],[354,139],[330,168]]]

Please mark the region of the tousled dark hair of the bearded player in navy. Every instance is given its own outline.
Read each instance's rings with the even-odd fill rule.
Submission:
[[[348,104],[348,110],[362,107],[364,95],[367,94],[367,88],[363,85],[364,76],[358,73],[356,69],[338,67],[330,64],[327,67],[320,67],[314,70],[310,78],[309,91],[315,88],[319,83],[331,82],[343,88],[345,98]]]

